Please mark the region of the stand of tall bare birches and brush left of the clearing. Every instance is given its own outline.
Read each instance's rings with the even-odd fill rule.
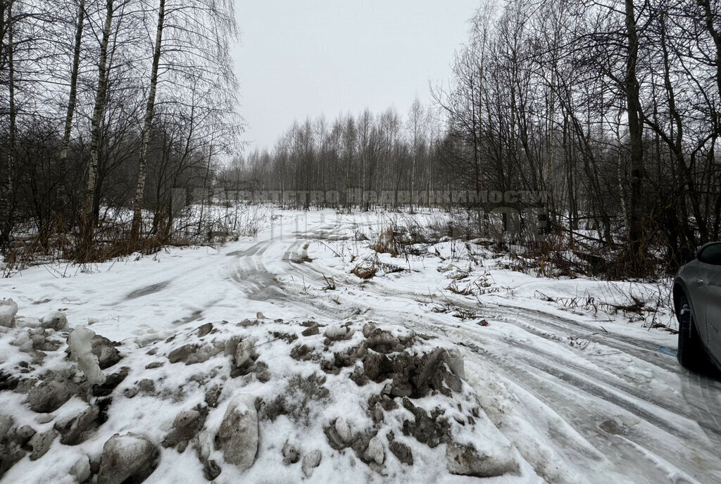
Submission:
[[[232,0],[0,0],[0,245],[162,235],[242,124]],[[152,221],[142,210],[150,210]]]

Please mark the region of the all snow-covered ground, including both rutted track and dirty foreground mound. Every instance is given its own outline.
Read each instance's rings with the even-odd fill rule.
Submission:
[[[439,220],[277,211],[222,247],[2,279],[19,460],[0,482],[115,482],[118,449],[146,483],[721,482],[721,383],[678,366],[663,287],[534,277],[461,241],[369,247]],[[36,319],[55,311],[118,342],[103,385],[61,316]]]

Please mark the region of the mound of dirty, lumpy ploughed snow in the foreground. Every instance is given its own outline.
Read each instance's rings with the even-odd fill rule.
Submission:
[[[15,363],[0,371],[25,407],[0,418],[10,481],[536,479],[481,410],[459,351],[422,333],[358,316],[205,323],[150,347],[125,340],[114,370],[119,344],[86,326],[66,341],[9,331],[22,341],[43,331],[54,348],[5,346]]]

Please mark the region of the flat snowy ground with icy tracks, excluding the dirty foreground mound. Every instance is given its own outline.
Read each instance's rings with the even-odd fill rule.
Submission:
[[[35,267],[3,279],[0,295],[21,315],[66,309],[71,326],[95,318],[93,331],[118,341],[258,311],[363,315],[457,344],[487,415],[542,480],[721,483],[721,382],[686,371],[661,349],[675,351],[675,335],[603,305],[631,292],[651,300],[658,287],[531,277],[454,241],[419,244],[415,256],[380,254],[367,281],[351,273],[376,258],[368,246],[390,223],[440,216],[276,212],[255,238],[87,273]]]

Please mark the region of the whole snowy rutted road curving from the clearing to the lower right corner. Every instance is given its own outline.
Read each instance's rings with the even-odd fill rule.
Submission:
[[[614,326],[601,329],[594,318],[554,308],[497,297],[479,305],[446,292],[453,305],[477,313],[460,321],[430,310],[437,287],[423,291],[402,275],[371,279],[358,290],[355,277],[324,264],[327,257],[302,262],[309,244],[318,246],[313,259],[342,232],[319,225],[295,241],[236,254],[239,284],[249,297],[278,297],[310,315],[345,317],[358,308],[374,321],[456,341],[480,393],[498,392],[487,395],[485,410],[549,482],[721,482],[721,382],[660,351],[659,341],[675,349],[674,336],[644,328],[614,333]],[[275,259],[279,246],[282,263]],[[281,275],[295,283],[278,284]],[[326,286],[327,277],[337,290],[309,297],[309,287]]]

